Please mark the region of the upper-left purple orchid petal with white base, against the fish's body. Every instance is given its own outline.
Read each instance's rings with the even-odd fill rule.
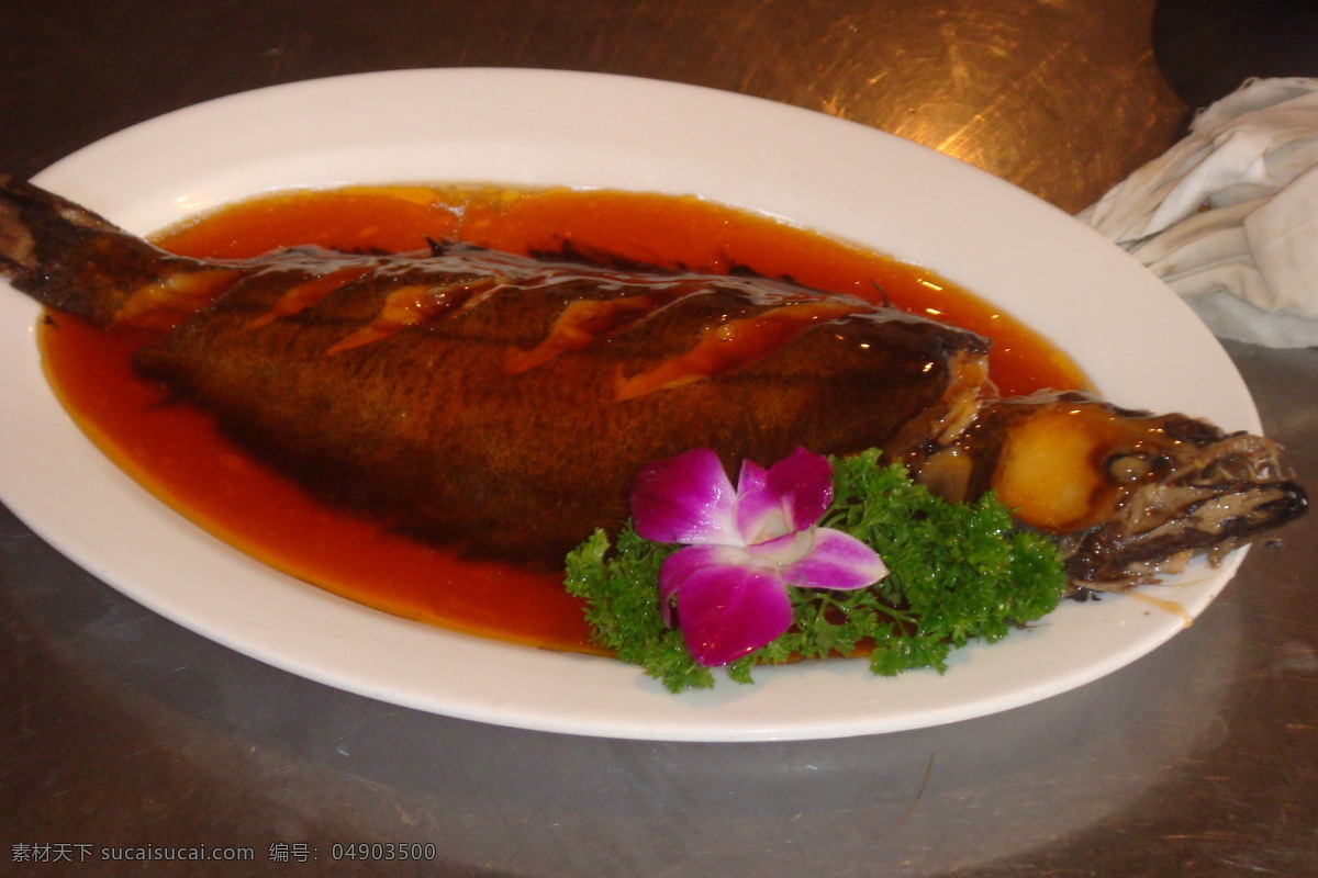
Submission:
[[[631,488],[637,533],[655,542],[738,545],[737,491],[718,455],[692,449],[650,463]]]

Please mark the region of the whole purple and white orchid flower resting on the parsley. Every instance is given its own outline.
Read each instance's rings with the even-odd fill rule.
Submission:
[[[659,570],[664,621],[681,616],[701,665],[726,665],[792,627],[788,586],[854,590],[888,570],[871,548],[818,520],[833,466],[803,448],[767,470],[742,462],[733,487],[718,455],[693,449],[648,465],[631,490],[637,533],[684,548]]]

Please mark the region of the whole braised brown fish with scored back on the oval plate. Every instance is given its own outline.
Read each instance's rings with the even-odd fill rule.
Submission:
[[[1265,438],[999,400],[987,340],[786,282],[457,244],[192,259],[8,179],[0,270],[98,325],[161,328],[141,374],[320,496],[478,554],[558,565],[626,517],[645,463],[699,446],[729,466],[883,448],[948,496],[996,490],[1095,587],[1306,505]]]

